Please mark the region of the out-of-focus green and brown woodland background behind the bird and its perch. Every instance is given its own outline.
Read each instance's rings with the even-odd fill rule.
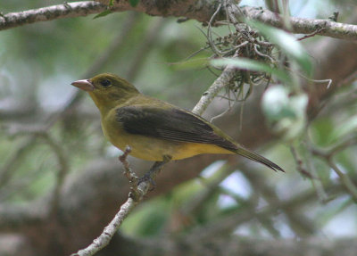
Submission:
[[[2,1],[0,11],[52,4],[62,2]],[[266,8],[264,1],[241,4]],[[339,12],[338,21],[357,21],[352,0],[298,1],[290,4],[290,12],[310,19]],[[220,74],[202,62],[212,51],[199,51],[207,45],[207,28],[197,21],[137,12],[94,16],[0,32],[0,255],[77,252],[102,232],[128,196],[120,151],[104,139],[95,104],[71,87],[72,81],[112,72],[146,95],[189,110]],[[228,29],[214,32],[224,37]],[[270,248],[276,241],[311,237],[354,241],[357,45],[319,36],[302,44],[314,77],[332,79],[329,88],[301,78],[309,99],[301,105],[292,103],[289,90],[268,96],[265,87],[254,87],[247,101],[213,120],[286,173],[233,156],[171,162],[101,255],[237,255],[222,244],[258,240]],[[203,117],[210,120],[229,105],[218,97]],[[274,107],[291,111],[293,118],[278,112],[271,121]],[[281,121],[283,133],[277,132]],[[138,174],[151,164],[129,161]],[[209,252],[200,247],[204,244]]]

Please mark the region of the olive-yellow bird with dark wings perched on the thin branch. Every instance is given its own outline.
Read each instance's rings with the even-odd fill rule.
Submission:
[[[277,164],[238,145],[207,120],[141,94],[123,78],[101,74],[71,84],[92,97],[102,117],[102,128],[116,147],[148,161],[164,157],[179,160],[200,153],[237,153],[258,161],[270,169],[281,170]]]

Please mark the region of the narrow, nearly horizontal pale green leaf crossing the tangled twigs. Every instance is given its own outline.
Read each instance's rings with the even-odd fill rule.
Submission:
[[[277,78],[279,78],[281,81],[285,83],[290,83],[291,79],[289,78],[288,73],[285,70],[278,70],[271,68],[270,65],[265,64],[263,62],[258,62],[254,61],[251,59],[246,59],[246,58],[222,58],[222,59],[215,59],[211,61],[212,65],[215,66],[226,66],[226,65],[232,65],[235,68],[239,69],[245,69],[245,70],[254,70],[254,71],[262,71],[262,72],[267,72],[270,73]]]

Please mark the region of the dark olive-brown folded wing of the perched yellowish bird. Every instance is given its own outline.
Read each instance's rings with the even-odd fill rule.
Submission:
[[[176,142],[219,145],[228,150],[237,146],[217,135],[211,125],[194,113],[177,108],[126,106],[116,111],[117,120],[126,132]]]

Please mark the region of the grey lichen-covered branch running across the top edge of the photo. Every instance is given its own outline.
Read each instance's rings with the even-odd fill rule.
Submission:
[[[115,1],[114,1],[115,2]],[[108,0],[72,2],[52,5],[25,12],[10,12],[0,16],[0,30],[11,29],[38,21],[52,21],[55,19],[87,16],[93,13],[104,12],[109,4]],[[283,19],[278,13],[262,8],[245,6],[238,9],[237,4],[232,5],[237,18],[242,14],[245,17],[262,21],[277,28],[283,28]],[[212,0],[179,0],[179,1],[140,1],[132,7],[129,1],[115,2],[111,7],[112,12],[137,11],[154,16],[186,17],[201,22],[210,21],[213,12],[217,10],[217,1]],[[241,10],[241,11],[239,11]],[[217,13],[216,21],[226,20],[224,8]],[[296,34],[316,33],[320,36],[335,37],[357,41],[357,25],[344,24],[326,20],[313,20],[303,18],[290,18],[292,32]]]

